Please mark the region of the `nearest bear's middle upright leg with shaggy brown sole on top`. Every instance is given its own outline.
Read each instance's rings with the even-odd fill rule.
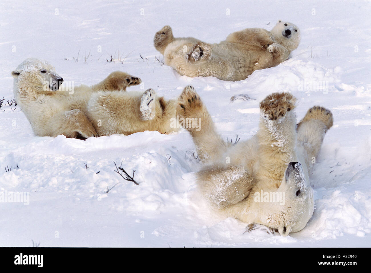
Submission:
[[[287,164],[295,159],[295,97],[288,92],[273,93],[260,102],[257,132],[262,167],[274,177],[282,177]]]

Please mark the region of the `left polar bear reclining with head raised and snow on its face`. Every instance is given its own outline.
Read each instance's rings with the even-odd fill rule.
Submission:
[[[24,60],[12,76],[14,97],[37,136],[88,138],[178,130],[170,121],[175,116],[174,101],[157,97],[152,89],[125,92],[141,79],[121,71],[96,85],[76,86],[73,92],[62,90],[62,77],[43,60]]]

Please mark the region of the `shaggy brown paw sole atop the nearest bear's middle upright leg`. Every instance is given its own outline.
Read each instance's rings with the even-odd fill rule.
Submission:
[[[263,117],[276,120],[295,108],[295,97],[288,92],[273,93],[260,102]]]

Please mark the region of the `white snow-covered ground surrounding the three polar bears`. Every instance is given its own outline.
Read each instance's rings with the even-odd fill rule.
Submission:
[[[370,14],[370,1],[2,0],[0,194],[28,192],[29,205],[0,203],[0,246],[370,246]],[[179,76],[153,47],[166,24],[174,36],[212,43],[246,27],[270,30],[279,19],[301,28],[298,49],[239,82]],[[311,174],[313,217],[282,237],[244,233],[245,223],[213,213],[197,193],[201,163],[185,131],[35,137],[19,108],[5,105],[13,99],[10,72],[27,57],[47,60],[76,85],[123,70],[174,98],[191,83],[229,139],[256,133],[259,102],[272,92],[298,98],[298,119],[313,105],[331,109],[334,126]],[[230,103],[240,93],[256,100]],[[135,170],[139,185],[114,172],[114,161]]]

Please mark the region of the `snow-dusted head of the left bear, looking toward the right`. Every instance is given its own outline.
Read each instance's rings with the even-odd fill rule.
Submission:
[[[14,92],[49,93],[57,91],[63,79],[50,63],[36,58],[24,60],[12,71]]]

